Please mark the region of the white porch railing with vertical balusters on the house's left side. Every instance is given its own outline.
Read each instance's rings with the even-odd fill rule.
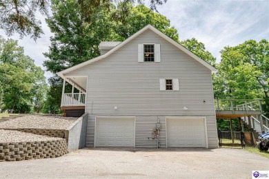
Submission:
[[[86,93],[65,93],[61,98],[61,106],[85,106]]]

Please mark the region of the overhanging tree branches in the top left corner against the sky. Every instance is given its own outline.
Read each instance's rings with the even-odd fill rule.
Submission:
[[[43,34],[41,21],[36,19],[36,12],[48,13],[49,3],[46,0],[37,1],[0,1],[0,28],[8,36],[19,33],[21,37],[29,35],[36,40]]]

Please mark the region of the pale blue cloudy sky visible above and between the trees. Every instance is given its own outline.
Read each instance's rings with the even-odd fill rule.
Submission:
[[[179,32],[179,39],[195,37],[206,45],[206,49],[220,61],[219,51],[224,46],[234,46],[249,39],[269,40],[269,0],[168,0],[158,7],[159,13],[170,19],[172,26]],[[50,45],[50,29],[43,21],[45,34],[34,42],[29,37],[17,39],[27,55],[43,69]],[[3,30],[0,35],[6,37]],[[46,72],[46,76],[51,76]]]

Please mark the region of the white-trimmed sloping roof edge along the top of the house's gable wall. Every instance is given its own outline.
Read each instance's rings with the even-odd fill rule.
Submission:
[[[90,63],[94,63],[96,61],[99,61],[101,59],[104,59],[107,56],[109,56],[110,54],[112,54],[113,52],[115,52],[116,50],[118,50],[119,48],[121,48],[126,43],[132,41],[132,39],[135,39],[135,37],[139,36],[139,34],[142,34],[143,32],[145,32],[148,29],[152,30],[153,32],[155,32],[159,36],[163,37],[163,39],[166,39],[166,41],[172,43],[177,48],[179,48],[180,50],[182,50],[183,52],[185,52],[186,54],[188,54],[189,56],[191,56],[193,59],[195,59],[196,61],[198,61],[199,63],[201,63],[205,67],[208,67],[208,69],[210,69],[212,72],[216,72],[217,71],[217,69],[215,67],[212,67],[211,65],[209,65],[208,63],[206,63],[206,61],[203,61],[202,59],[200,59],[198,56],[196,56],[195,54],[193,54],[192,52],[190,52],[190,50],[184,48],[182,45],[180,45],[176,41],[172,40],[170,37],[166,36],[166,34],[163,34],[163,32],[157,30],[152,25],[146,25],[146,27],[142,28],[141,30],[139,30],[138,32],[136,32],[135,34],[133,34],[132,36],[130,36],[125,41],[123,41],[123,42],[119,43],[118,45],[116,45],[114,48],[112,48],[112,50],[108,51],[106,54],[103,54],[101,56],[97,56],[96,58],[90,59],[90,60],[85,61],[83,63],[79,63],[78,65],[74,65],[73,67],[70,67],[70,68],[68,68],[66,70],[63,70],[61,72],[58,72],[57,74],[59,76],[61,76],[61,78],[63,78],[63,74],[66,74],[68,72],[72,72],[73,70],[77,70],[80,67],[83,67],[83,66],[88,65]]]

